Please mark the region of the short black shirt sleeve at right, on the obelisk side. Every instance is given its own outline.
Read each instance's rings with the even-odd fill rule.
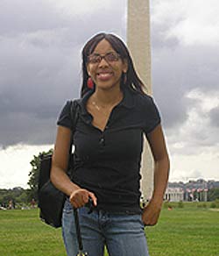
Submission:
[[[155,129],[161,122],[159,110],[157,105],[154,103],[152,96],[148,96],[145,105],[145,127],[144,132],[150,133]]]

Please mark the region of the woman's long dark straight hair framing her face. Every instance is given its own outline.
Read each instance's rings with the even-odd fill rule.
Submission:
[[[129,50],[124,45],[124,42],[119,39],[116,35],[111,33],[98,33],[93,38],[89,39],[86,45],[82,50],[82,88],[81,88],[81,96],[83,96],[88,91],[87,81],[88,81],[88,72],[87,72],[87,63],[88,63],[88,55],[94,52],[95,46],[98,45],[102,39],[106,39],[109,44],[113,47],[113,49],[119,53],[122,60],[126,60],[128,63],[128,70],[126,73],[126,82],[124,84],[124,74],[121,78],[121,87],[128,87],[131,89],[135,89],[138,92],[145,94],[144,83],[138,77],[133,61],[131,60],[131,55]]]

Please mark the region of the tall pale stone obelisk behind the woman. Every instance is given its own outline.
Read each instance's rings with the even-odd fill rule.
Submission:
[[[149,0],[128,0],[127,43],[138,75],[147,88],[146,93],[152,94]],[[141,191],[145,199],[149,199],[153,188],[153,161],[146,139],[141,175]]]

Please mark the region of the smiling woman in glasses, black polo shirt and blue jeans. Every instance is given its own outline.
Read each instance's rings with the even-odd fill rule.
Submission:
[[[68,256],[77,252],[73,206],[79,208],[84,250],[89,256],[145,256],[145,225],[156,224],[168,178],[169,160],[159,111],[133,67],[121,39],[99,33],[82,50],[80,115],[74,127],[74,174],[66,174],[70,103],[61,111],[51,179],[67,195],[62,231]],[[154,159],[154,190],[139,206],[143,134]],[[88,214],[88,198],[95,210]]]

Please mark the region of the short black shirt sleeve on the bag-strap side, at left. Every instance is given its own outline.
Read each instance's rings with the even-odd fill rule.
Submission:
[[[72,130],[72,120],[71,120],[71,106],[72,102],[67,101],[62,110],[60,111],[60,117],[58,118],[57,124],[60,126],[65,126]]]

